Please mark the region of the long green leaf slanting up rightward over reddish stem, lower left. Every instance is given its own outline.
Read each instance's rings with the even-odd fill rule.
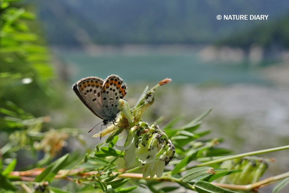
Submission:
[[[45,170],[35,178],[36,182],[41,181],[48,181],[50,182],[54,176],[57,174],[59,170],[66,166],[66,161],[68,159],[69,154],[66,154],[59,158],[58,160],[54,161],[53,163],[49,164]]]

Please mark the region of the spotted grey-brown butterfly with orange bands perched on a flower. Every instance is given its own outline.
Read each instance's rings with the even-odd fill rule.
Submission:
[[[97,117],[103,119],[103,125],[115,122],[118,109],[118,100],[126,95],[126,84],[123,79],[112,74],[105,80],[98,77],[86,77],[72,85],[72,89]],[[91,130],[90,130],[91,131]]]

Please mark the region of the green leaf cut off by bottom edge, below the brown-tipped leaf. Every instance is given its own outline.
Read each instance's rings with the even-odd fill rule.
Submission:
[[[226,190],[214,184],[205,181],[197,181],[194,187],[199,193],[237,193],[231,190]]]

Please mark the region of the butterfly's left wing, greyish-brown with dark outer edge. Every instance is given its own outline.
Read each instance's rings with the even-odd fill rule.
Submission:
[[[98,77],[86,77],[73,84],[72,89],[92,113],[103,120],[107,120],[108,117],[102,107],[102,86],[103,79]]]

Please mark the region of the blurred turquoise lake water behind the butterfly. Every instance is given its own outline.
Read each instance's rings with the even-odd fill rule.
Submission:
[[[246,62],[203,62],[196,54],[90,56],[81,52],[58,52],[58,56],[73,66],[72,83],[87,76],[104,79],[110,74],[119,75],[125,82],[156,82],[168,77],[173,82],[182,84],[267,83],[260,67],[252,67]]]

